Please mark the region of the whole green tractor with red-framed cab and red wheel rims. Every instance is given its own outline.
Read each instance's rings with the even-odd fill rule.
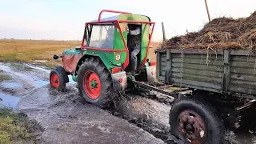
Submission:
[[[103,12],[118,13],[117,16],[101,18]],[[127,27],[140,29],[137,66],[135,74],[130,72],[130,35]],[[156,62],[149,58],[150,42],[154,31],[154,22],[139,14],[122,11],[102,10],[98,19],[86,22],[82,45],[64,50],[54,59],[62,58],[62,66],[56,66],[50,72],[50,85],[65,90],[68,75],[78,83],[82,98],[95,106],[104,107],[115,92],[126,90],[134,79],[140,82],[154,82]]]

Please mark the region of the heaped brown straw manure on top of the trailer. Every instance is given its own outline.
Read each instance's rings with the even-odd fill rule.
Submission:
[[[202,30],[162,42],[162,49],[256,49],[256,11],[247,18],[215,18]]]

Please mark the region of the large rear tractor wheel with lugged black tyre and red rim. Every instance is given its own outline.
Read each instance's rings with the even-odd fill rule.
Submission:
[[[99,58],[86,58],[80,66],[78,90],[87,102],[101,108],[114,98],[111,75]]]

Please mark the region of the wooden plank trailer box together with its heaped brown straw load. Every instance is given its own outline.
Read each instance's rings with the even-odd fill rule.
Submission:
[[[256,94],[256,11],[248,18],[216,18],[198,32],[162,42],[160,82],[221,94]]]

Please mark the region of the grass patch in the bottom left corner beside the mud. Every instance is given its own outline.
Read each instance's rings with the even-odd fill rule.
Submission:
[[[31,141],[34,136],[22,126],[22,119],[10,110],[0,110],[0,144]]]

